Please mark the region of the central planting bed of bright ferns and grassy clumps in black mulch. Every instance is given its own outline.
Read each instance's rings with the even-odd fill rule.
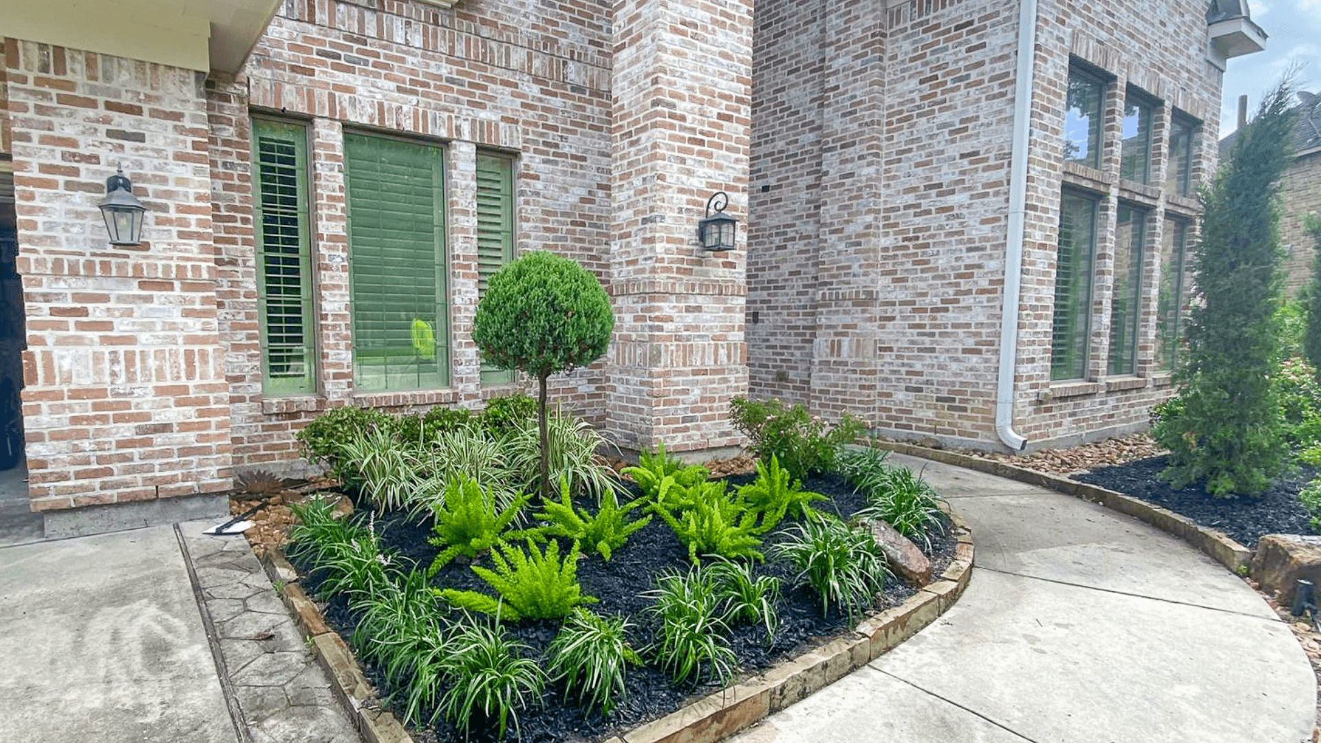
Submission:
[[[658,472],[664,469],[657,464],[663,459],[662,456],[653,460]],[[873,473],[896,471],[888,464],[873,464],[871,468]],[[353,463],[341,461],[339,467],[351,469]],[[666,467],[671,469],[672,480],[679,465],[670,463]],[[419,514],[415,508],[410,508],[410,498],[392,502],[370,520],[359,514],[354,526],[332,524],[328,509],[321,516],[304,510],[301,528],[304,531],[301,535],[296,533],[291,557],[305,574],[304,587],[310,594],[321,592],[328,599],[324,608],[328,624],[358,652],[370,681],[378,693],[390,701],[396,715],[413,723],[416,739],[460,740],[465,734],[474,740],[497,739],[501,736],[502,717],[507,723],[507,735],[517,734],[523,740],[604,739],[672,711],[695,695],[720,689],[733,682],[738,674],[765,669],[779,660],[848,633],[856,627],[864,611],[896,606],[914,591],[884,575],[881,568],[872,568],[875,584],[863,583],[861,594],[856,590],[848,594],[847,571],[836,567],[832,568],[835,572],[827,571],[824,582],[818,576],[816,584],[820,588],[838,579],[843,588],[836,587],[839,594],[823,599],[820,590],[810,586],[804,575],[814,574],[812,571],[820,572],[820,555],[824,554],[824,547],[799,547],[795,553],[799,561],[807,554],[816,562],[795,566],[793,565],[795,554],[790,554],[786,545],[795,541],[795,531],[838,530],[848,538],[863,534],[864,530],[845,526],[844,520],[860,509],[875,510],[877,502],[885,498],[878,496],[875,484],[861,489],[855,488],[856,483],[865,480],[861,471],[853,471],[849,480],[839,473],[823,473],[810,477],[801,490],[819,493],[819,500],[797,513],[793,509],[786,513],[783,505],[777,512],[775,502],[791,500],[793,493],[801,492],[786,487],[787,476],[783,475],[778,477],[779,489],[770,488],[768,483],[777,479],[773,472],[774,469],[768,467],[758,476],[741,475],[717,481],[707,481],[704,473],[700,473],[699,480],[682,488],[682,492],[687,493],[684,497],[672,493],[666,496],[663,489],[658,493],[654,488],[649,492],[649,488],[638,484],[626,484],[618,502],[641,504],[642,508],[634,506],[635,513],[625,521],[638,518],[643,513],[650,514],[650,521],[610,550],[609,561],[598,550],[571,542],[567,537],[542,534],[536,542],[526,542],[526,546],[520,546],[513,538],[499,539],[494,550],[478,549],[466,558],[456,557],[439,565],[428,578],[427,567],[437,555],[454,551],[452,549],[454,545],[435,538],[439,531],[433,530],[432,520],[437,518],[435,514],[440,512],[433,510],[428,514],[424,510]],[[643,475],[645,472],[635,473],[646,485]],[[929,488],[919,480],[911,476],[900,480],[908,483],[910,489],[915,488],[914,493],[922,497],[931,496]],[[760,497],[757,488],[778,494],[764,497],[765,502],[753,508],[749,504]],[[361,510],[380,506],[386,498],[382,498],[378,490],[379,488],[373,489],[367,483],[359,488],[357,500]],[[701,496],[701,492],[707,494]],[[744,528],[742,531],[732,531],[738,538],[721,538],[707,543],[688,531],[690,529],[700,531],[694,524],[701,521],[700,513],[711,510],[704,512],[694,505],[701,498],[724,504],[721,508],[745,509],[740,512],[741,517],[733,512],[729,514],[731,524],[737,521],[740,528]],[[605,510],[606,498],[583,487],[573,490],[571,501],[580,514],[593,518],[596,516],[593,512]],[[440,502],[435,493],[432,502]],[[662,508],[666,502],[671,505]],[[505,508],[491,502],[490,513],[498,516],[497,512]],[[524,505],[523,509],[526,513],[522,524],[501,526],[502,530],[509,530],[506,535],[519,530],[526,533],[534,525],[544,524],[530,516],[544,516],[548,504],[543,501],[540,508]],[[768,514],[775,517],[771,520]],[[322,517],[325,518],[321,526],[317,526],[317,518]],[[894,521],[904,524],[900,517]],[[768,524],[766,529],[760,530]],[[812,526],[816,524],[831,526],[828,529]],[[322,530],[321,535],[314,534],[317,529]],[[934,572],[941,574],[955,553],[952,530],[943,516],[933,514],[923,531],[931,538],[927,551],[935,558]],[[338,533],[339,537],[334,537],[333,533]],[[684,538],[680,538],[680,534],[684,534]],[[806,537],[808,534],[799,534],[798,541],[804,542]],[[339,539],[339,547],[334,546],[336,538]],[[824,538],[828,541],[831,537]],[[740,539],[746,539],[746,543]],[[875,549],[869,535],[867,542],[869,550]],[[728,554],[721,558],[719,554],[711,554],[712,551],[728,551]],[[757,554],[765,554],[766,559],[757,559]],[[878,555],[878,553],[872,554]],[[501,559],[511,567],[518,559],[523,559],[522,555],[527,555],[532,562],[544,555],[548,563],[553,563],[560,574],[568,575],[568,580],[575,584],[573,596],[590,598],[594,603],[573,609],[572,613],[568,613],[565,606],[555,604],[557,608],[552,612],[555,615],[552,617],[518,621],[511,621],[507,615],[497,621],[495,617],[456,611],[450,604],[482,608],[485,602],[491,604],[497,613],[514,613],[511,609],[518,602],[510,599],[510,603],[505,604],[501,600],[503,594],[493,591],[493,582],[489,580],[491,574],[487,572],[486,578],[482,578],[480,570],[498,570],[497,555],[503,555]],[[563,562],[557,562],[556,555],[561,557]],[[844,557],[847,555],[840,555],[840,559]],[[683,602],[697,600],[694,599],[694,586],[703,580],[727,587],[734,586],[736,579],[728,575],[721,578],[724,574],[736,578],[740,574],[745,575],[748,583],[745,588],[754,582],[778,582],[779,590],[765,594],[765,600],[758,604],[774,607],[775,619],[768,621],[765,613],[758,613],[756,607],[745,612],[736,611],[733,603],[721,598],[720,606],[708,611],[709,624],[703,625],[704,629],[688,632],[692,627],[684,625],[683,621],[687,620],[682,616],[678,624],[671,621],[672,617],[666,612],[679,606],[679,613],[684,613]],[[881,591],[872,594],[869,586]],[[668,592],[659,592],[658,588],[662,587],[668,588]],[[456,594],[464,591],[472,594]],[[443,592],[443,598],[437,598],[436,592]],[[853,599],[848,598],[851,595]],[[678,603],[676,596],[682,599]],[[855,606],[849,607],[849,600],[853,600]],[[550,602],[546,606],[552,604],[553,602]],[[670,608],[657,609],[662,604]],[[506,606],[510,608],[505,608]],[[532,608],[538,606],[540,604],[527,604]],[[520,611],[535,616],[532,608],[527,607]],[[581,613],[581,608],[589,608],[593,613]],[[410,628],[410,623],[415,623],[416,627]],[[572,674],[565,677],[563,673],[555,673],[556,653],[563,650],[564,645],[560,640],[560,646],[556,646],[556,639],[571,635],[567,629],[569,625],[583,632],[594,627],[597,635],[592,636],[600,637],[602,644],[616,643],[617,637],[622,654],[633,656],[633,662],[618,660],[613,666],[609,664],[605,666],[608,672],[624,669],[618,689],[612,687],[604,693],[598,687],[585,690],[587,686],[581,680],[575,681]],[[402,628],[398,635],[394,631],[396,627]],[[425,632],[417,631],[419,627],[427,628]],[[675,627],[682,631],[676,632]],[[773,629],[769,640],[768,627]],[[387,632],[383,628],[391,629]],[[427,639],[424,637],[427,632],[444,637]],[[480,682],[464,676],[461,669],[456,670],[454,662],[441,662],[443,656],[453,654],[456,645],[450,643],[460,641],[454,637],[473,646],[489,649],[487,654],[491,657],[499,656],[502,660],[495,665],[499,666],[499,673],[503,674],[501,678],[505,681],[511,677],[522,681],[503,686],[499,680],[494,684]],[[398,652],[400,645],[408,645],[410,652]],[[627,650],[624,650],[625,646]],[[720,650],[720,646],[727,650]],[[427,656],[428,652],[435,656],[432,660],[436,665],[432,670],[427,670],[431,669],[427,664],[432,662],[427,660],[431,657]],[[550,670],[548,676],[543,668]],[[429,682],[419,682],[417,674],[423,672],[433,673],[433,677],[427,677]],[[499,691],[503,695],[493,693],[493,687],[503,689]],[[476,699],[476,705],[472,699],[466,706],[456,705],[453,699],[456,689],[470,690],[469,697]],[[487,698],[491,694],[495,694],[494,701]],[[602,699],[608,703],[601,705]],[[602,714],[604,706],[613,709]],[[499,714],[501,709],[507,709],[507,715]],[[468,730],[464,730],[465,722]]]

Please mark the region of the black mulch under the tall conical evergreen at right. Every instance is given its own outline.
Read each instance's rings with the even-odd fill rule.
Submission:
[[[1106,467],[1074,480],[1119,490],[1127,496],[1168,508],[1194,522],[1223,531],[1252,549],[1266,534],[1312,534],[1308,513],[1299,504],[1299,490],[1316,476],[1308,465],[1277,479],[1260,497],[1217,498],[1201,485],[1176,490],[1156,479],[1165,469],[1165,456]]]

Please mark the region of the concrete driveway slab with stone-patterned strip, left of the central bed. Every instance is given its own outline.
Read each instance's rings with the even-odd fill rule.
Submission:
[[[358,740],[247,542],[210,525],[0,549],[0,740]]]

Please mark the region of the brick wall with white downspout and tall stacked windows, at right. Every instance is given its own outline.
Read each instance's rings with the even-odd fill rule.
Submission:
[[[752,391],[826,414],[865,412],[875,401],[875,422],[884,432],[997,448],[993,406],[1018,7],[890,3],[868,16],[884,24],[868,26],[849,16],[867,5],[758,4]],[[1015,401],[1016,428],[1034,443],[1141,426],[1148,407],[1169,394],[1169,378],[1153,358],[1157,253],[1165,213],[1194,215],[1196,202],[1119,182],[1122,122],[1114,111],[1131,82],[1165,100],[1156,116],[1157,141],[1168,131],[1170,106],[1203,120],[1194,178],[1207,172],[1215,143],[1205,132],[1218,126],[1221,73],[1205,61],[1203,11],[1192,0],[1155,8],[1040,5]],[[1108,94],[1103,168],[1067,176],[1102,194],[1104,210],[1089,378],[1058,385],[1049,378],[1050,320],[1070,54],[1118,79]],[[880,95],[871,97],[877,85]],[[861,139],[832,140],[835,131]],[[865,167],[875,160],[864,157],[863,167],[849,160],[849,149],[871,152],[872,132],[880,132],[878,173]],[[1164,181],[1165,159],[1159,144],[1156,184]],[[1147,291],[1137,374],[1108,379],[1119,198],[1151,209]],[[877,213],[873,238],[868,230]],[[876,307],[875,317],[868,305]],[[869,368],[867,352],[855,350],[851,368],[843,349],[868,333],[875,362]],[[831,366],[840,373],[831,374]],[[811,370],[810,383],[804,370]]]

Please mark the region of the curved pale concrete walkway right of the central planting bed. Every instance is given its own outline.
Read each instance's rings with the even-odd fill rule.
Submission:
[[[1255,591],[1184,541],[1071,496],[923,471],[972,528],[963,598],[738,743],[1300,743],[1316,677]]]

